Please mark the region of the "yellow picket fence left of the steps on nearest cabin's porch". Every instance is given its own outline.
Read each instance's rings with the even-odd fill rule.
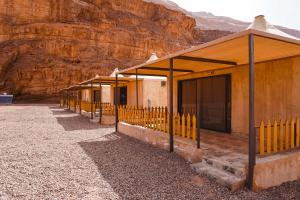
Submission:
[[[166,107],[119,106],[118,112],[120,121],[169,133],[170,113]],[[172,120],[174,135],[196,141],[195,115],[176,114]]]

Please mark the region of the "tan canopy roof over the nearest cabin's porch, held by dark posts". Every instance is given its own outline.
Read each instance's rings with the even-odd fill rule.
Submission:
[[[300,40],[250,28],[122,70],[119,74],[135,74],[137,69],[139,75],[168,76],[171,58],[174,76],[248,64],[250,34],[254,36],[256,63],[300,55]]]

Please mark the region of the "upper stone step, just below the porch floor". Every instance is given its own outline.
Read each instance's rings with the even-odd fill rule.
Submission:
[[[247,176],[247,167],[242,163],[233,163],[218,158],[208,158],[206,156],[203,157],[203,162],[240,178]]]

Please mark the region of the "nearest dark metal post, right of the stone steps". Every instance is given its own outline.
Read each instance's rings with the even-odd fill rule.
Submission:
[[[256,163],[256,133],[254,127],[254,35],[249,35],[249,166],[248,187],[252,189]]]

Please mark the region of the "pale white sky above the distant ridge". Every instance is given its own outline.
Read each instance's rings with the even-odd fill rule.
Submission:
[[[251,22],[265,15],[274,24],[300,30],[300,0],[171,0],[188,11],[206,11],[217,16]]]

